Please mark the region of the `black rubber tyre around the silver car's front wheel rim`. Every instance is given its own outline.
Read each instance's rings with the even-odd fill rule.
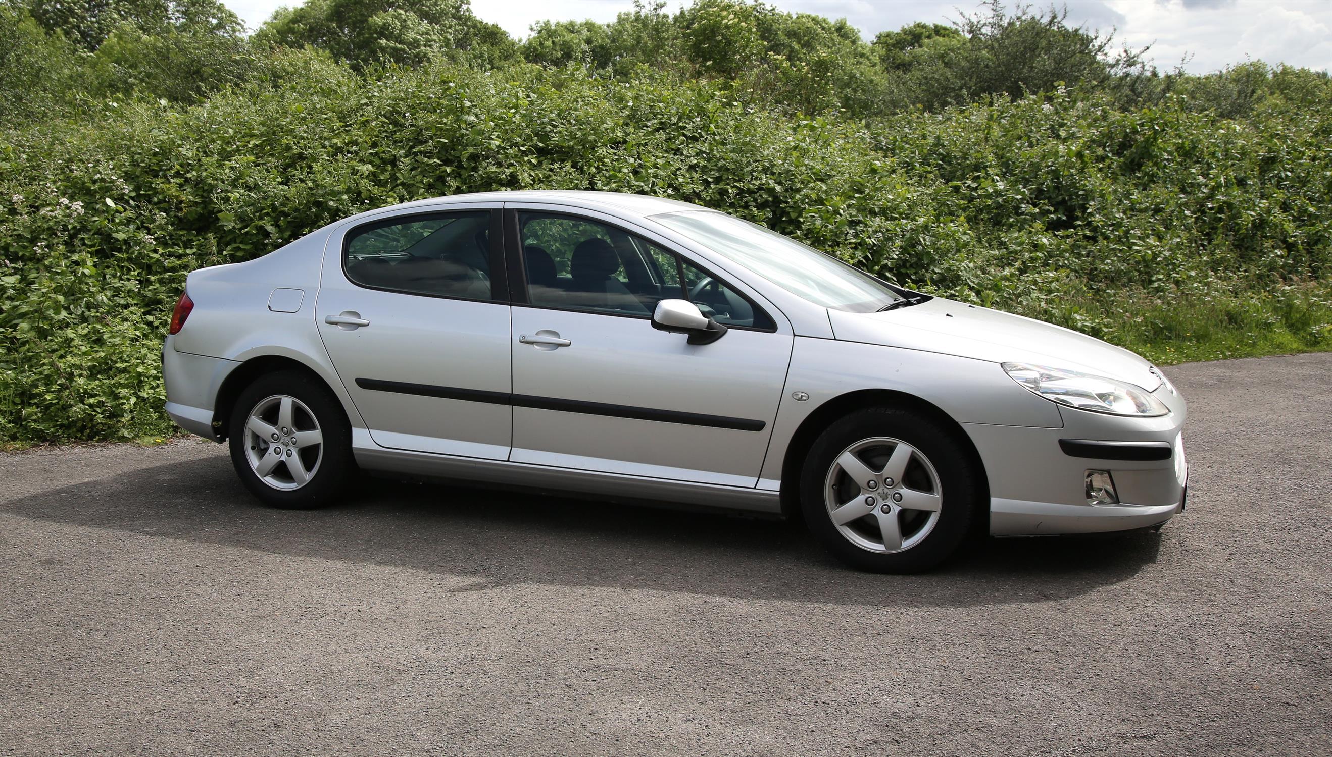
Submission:
[[[907,528],[899,526],[903,536],[902,544],[906,547],[899,552],[872,551],[870,547],[854,543],[834,524],[830,504],[825,499],[830,476],[835,480],[847,480],[830,474],[834,462],[854,444],[872,438],[898,439],[915,447],[932,466],[942,488],[942,504],[932,526],[926,523],[930,514],[902,512],[902,519],[898,523],[916,527],[918,533],[923,533],[923,536],[919,536],[919,541],[915,544],[906,547]],[[883,448],[891,450],[892,447]],[[922,467],[919,458],[912,458],[910,466],[911,476],[916,476],[918,480],[928,480],[930,474]],[[919,479],[919,476],[926,476],[926,479]],[[866,490],[862,494],[891,496],[887,482],[879,486],[882,488],[878,492]],[[983,491],[980,471],[976,470],[972,456],[962,443],[928,415],[900,407],[870,407],[834,422],[814,442],[801,470],[801,511],[810,532],[843,563],[878,573],[927,571],[952,557],[967,540],[972,524],[976,523]],[[860,492],[860,488],[856,487],[855,492]],[[904,494],[910,495],[911,492]],[[852,492],[851,496],[859,498],[859,494]],[[838,495],[838,499],[847,499],[847,496]],[[876,502],[880,504],[867,507],[866,518],[850,522],[846,528],[852,531],[870,530],[870,524],[876,523],[878,519],[875,510],[886,504],[883,499],[876,499]],[[883,541],[887,543],[887,539],[884,537]]]

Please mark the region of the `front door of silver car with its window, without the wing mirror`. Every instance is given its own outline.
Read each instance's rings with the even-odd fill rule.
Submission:
[[[511,222],[527,302],[513,309],[510,460],[754,487],[791,357],[785,319],[613,224],[535,210]],[[657,331],[665,298],[730,330],[697,346]]]

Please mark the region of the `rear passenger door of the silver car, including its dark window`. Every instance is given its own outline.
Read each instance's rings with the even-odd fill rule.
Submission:
[[[382,447],[509,456],[509,291],[498,204],[334,233],[316,318]]]

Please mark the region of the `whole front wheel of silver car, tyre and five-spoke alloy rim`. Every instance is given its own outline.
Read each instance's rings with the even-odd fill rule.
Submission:
[[[832,423],[810,448],[801,508],[810,531],[864,571],[924,571],[952,556],[979,508],[978,472],[931,418],[872,407]]]

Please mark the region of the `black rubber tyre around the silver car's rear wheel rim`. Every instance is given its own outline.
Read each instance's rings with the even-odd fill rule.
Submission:
[[[248,455],[252,451],[246,423],[260,400],[276,395],[286,395],[300,400],[308,414],[318,424],[322,435],[322,450],[317,456],[313,475],[300,488],[281,490],[265,483],[250,467]],[[264,504],[286,510],[313,510],[337,502],[346,491],[356,471],[352,456],[352,430],[337,398],[317,379],[301,371],[277,371],[264,374],[246,386],[228,420],[228,442],[232,452],[232,466],[245,488]],[[266,443],[266,442],[265,442]],[[313,452],[313,450],[309,450]],[[281,470],[281,468],[280,468]]]

